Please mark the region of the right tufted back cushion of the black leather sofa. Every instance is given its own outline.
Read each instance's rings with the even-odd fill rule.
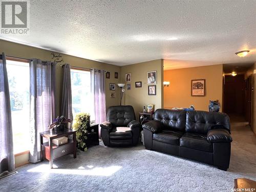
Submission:
[[[228,115],[225,113],[206,111],[186,112],[186,132],[207,134],[212,125],[223,125],[230,130]]]

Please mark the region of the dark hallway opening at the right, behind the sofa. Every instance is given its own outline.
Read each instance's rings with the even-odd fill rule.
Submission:
[[[236,64],[238,65],[238,64]],[[253,123],[253,70],[254,65],[223,65],[223,112],[244,119],[250,127]],[[232,74],[233,73],[233,74]]]

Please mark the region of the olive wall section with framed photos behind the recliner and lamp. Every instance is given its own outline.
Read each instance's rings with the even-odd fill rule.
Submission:
[[[157,71],[156,95],[148,95],[147,72]],[[125,73],[132,73],[132,82],[125,82]],[[121,67],[121,81],[125,83],[122,103],[134,107],[136,119],[143,106],[154,104],[155,110],[163,107],[163,59],[136,63]],[[135,82],[142,81],[142,88],[135,88]],[[131,90],[127,90],[127,83],[131,83]]]

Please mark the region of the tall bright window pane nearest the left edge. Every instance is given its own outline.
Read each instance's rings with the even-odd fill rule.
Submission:
[[[7,60],[14,154],[29,150],[29,63]]]

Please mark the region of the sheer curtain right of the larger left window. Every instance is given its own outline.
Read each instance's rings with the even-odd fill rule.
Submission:
[[[40,132],[48,130],[55,116],[55,63],[32,59],[30,67],[30,156],[40,160]]]

